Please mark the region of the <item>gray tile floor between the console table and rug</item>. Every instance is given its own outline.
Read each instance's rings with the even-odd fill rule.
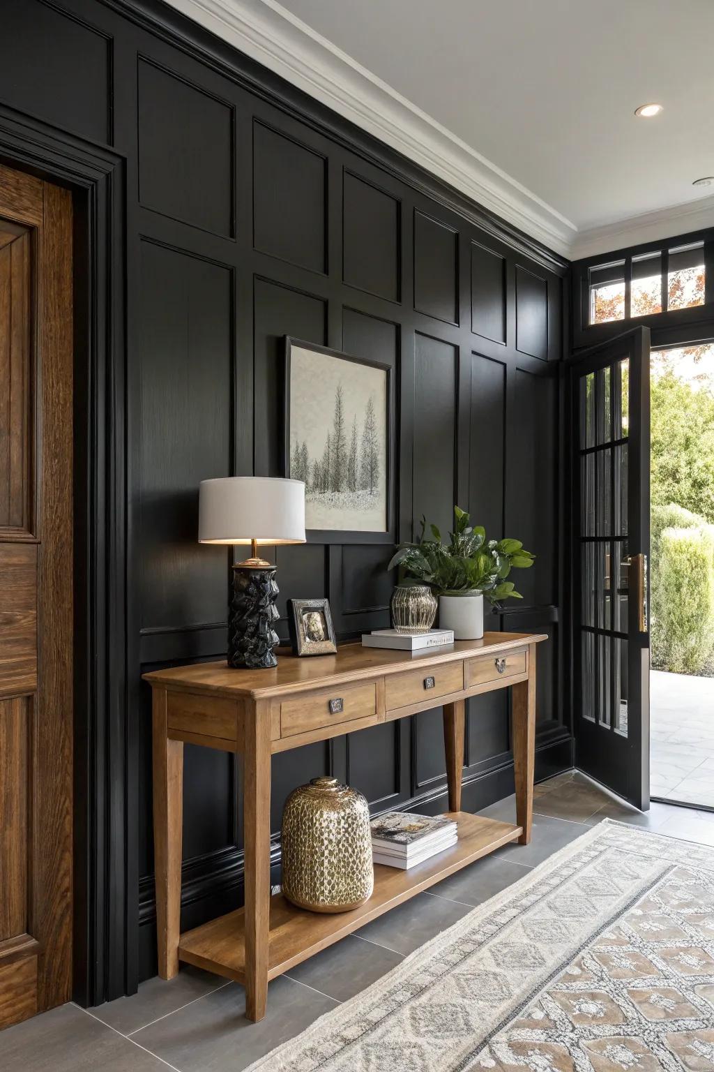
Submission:
[[[513,796],[484,815],[514,819]],[[268,1015],[244,1016],[242,987],[191,968],[96,1009],[75,1004],[0,1032],[3,1072],[239,1072],[346,1001],[605,817],[714,845],[714,814],[626,807],[580,774],[536,786],[533,840],[504,846],[270,984]]]

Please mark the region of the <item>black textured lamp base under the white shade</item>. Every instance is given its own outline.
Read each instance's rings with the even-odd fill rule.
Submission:
[[[228,666],[248,670],[277,666],[275,566],[233,566],[228,614]]]

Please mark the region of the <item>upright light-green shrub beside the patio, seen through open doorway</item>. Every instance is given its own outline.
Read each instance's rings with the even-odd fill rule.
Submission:
[[[701,673],[714,650],[714,526],[659,530],[652,550],[652,665]]]

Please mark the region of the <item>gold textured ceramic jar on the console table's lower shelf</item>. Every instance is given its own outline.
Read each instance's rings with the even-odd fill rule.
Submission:
[[[369,807],[337,778],[313,778],[285,802],[283,893],[313,912],[347,912],[371,896]]]

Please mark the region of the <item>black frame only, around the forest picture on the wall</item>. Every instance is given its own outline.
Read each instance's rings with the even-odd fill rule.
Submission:
[[[389,361],[380,361],[370,357],[358,357],[341,351],[319,346],[317,343],[285,336],[285,410],[284,410],[284,474],[290,476],[290,367],[293,346],[309,349],[316,354],[338,358],[341,361],[353,361],[373,369],[381,369],[386,374],[386,434],[385,434],[385,468],[386,468],[386,530],[384,532],[368,530],[344,528],[307,528],[308,544],[395,544],[396,542],[396,502],[397,487],[396,468],[396,369]]]

